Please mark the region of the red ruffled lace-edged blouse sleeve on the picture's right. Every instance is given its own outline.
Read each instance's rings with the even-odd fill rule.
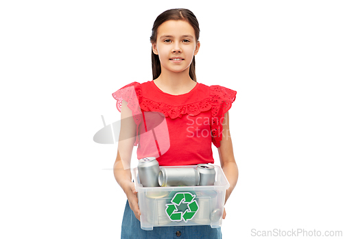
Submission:
[[[220,147],[222,140],[222,123],[225,113],[230,110],[233,101],[236,99],[237,91],[224,86],[210,86],[211,100],[211,135],[215,147]]]

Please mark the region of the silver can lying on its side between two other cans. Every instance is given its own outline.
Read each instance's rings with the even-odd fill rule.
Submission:
[[[195,168],[162,168],[158,173],[158,184],[161,187],[169,186],[198,186],[199,172]]]

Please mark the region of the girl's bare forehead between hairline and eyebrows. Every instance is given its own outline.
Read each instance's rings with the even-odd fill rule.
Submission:
[[[191,24],[182,20],[169,20],[162,23],[157,29],[157,37],[191,35],[195,37],[195,32]]]

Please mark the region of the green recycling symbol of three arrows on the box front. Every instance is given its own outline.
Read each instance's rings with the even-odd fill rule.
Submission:
[[[191,194],[191,192],[177,192],[173,199],[171,199],[171,203],[165,205],[167,207],[165,213],[170,221],[180,222],[183,219],[187,223],[187,220],[191,220],[199,210],[199,205],[195,198],[196,195]],[[188,208],[185,212],[178,212],[178,207],[176,206],[179,206],[181,203],[187,203]]]

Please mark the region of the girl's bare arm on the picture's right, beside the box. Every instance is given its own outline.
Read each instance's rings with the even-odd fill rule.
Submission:
[[[235,157],[233,156],[233,142],[230,136],[230,129],[228,124],[228,112],[225,114],[225,118],[223,121],[223,138],[220,141],[220,147],[218,148],[218,153],[220,156],[220,164],[224,171],[228,182],[230,183],[230,188],[226,190],[225,195],[225,203],[230,197],[231,192],[233,192],[233,188],[235,188],[238,179],[238,168],[235,161]]]

